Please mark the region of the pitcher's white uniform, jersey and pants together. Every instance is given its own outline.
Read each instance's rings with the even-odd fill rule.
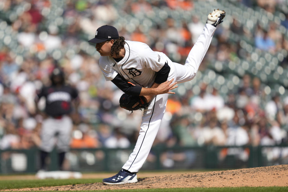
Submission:
[[[215,30],[216,27],[205,25],[184,65],[174,63],[164,53],[154,52],[146,44],[134,41],[126,41],[125,57],[119,63],[106,56],[100,58],[99,65],[106,80],[113,80],[119,73],[136,85],[150,87],[154,82],[155,72],[167,62],[170,66],[169,80],[174,78],[174,82],[178,83],[190,81],[196,75]],[[137,143],[122,169],[138,172],[144,164],[164,116],[168,95],[156,95],[144,110]]]

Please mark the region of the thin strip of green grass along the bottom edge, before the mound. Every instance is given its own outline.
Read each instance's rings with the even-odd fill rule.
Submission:
[[[67,190],[67,192],[70,190]],[[95,190],[85,190],[85,192],[95,192]],[[98,191],[98,190],[97,190]],[[288,187],[225,187],[225,188],[168,188],[168,189],[129,189],[129,190],[99,190],[101,192],[286,192]],[[28,192],[28,191],[27,191]],[[30,191],[29,191],[30,192]],[[41,191],[42,192],[42,191]],[[50,191],[49,191],[50,192]],[[52,191],[51,192],[55,192]],[[66,192],[66,191],[65,191]],[[82,191],[73,191],[73,192],[84,192]]]

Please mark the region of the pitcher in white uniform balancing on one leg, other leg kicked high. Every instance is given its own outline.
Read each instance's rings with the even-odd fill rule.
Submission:
[[[100,53],[99,66],[107,81],[112,81],[126,95],[120,106],[128,110],[143,108],[141,130],[128,161],[115,176],[103,179],[104,184],[137,182],[136,173],[144,164],[163,118],[169,94],[176,83],[190,81],[196,75],[206,54],[216,26],[223,22],[225,11],[214,10],[202,34],[191,49],[184,65],[172,62],[164,53],[155,52],[141,42],[125,41],[113,26],[101,26],[95,38]],[[132,85],[131,82],[134,85]]]

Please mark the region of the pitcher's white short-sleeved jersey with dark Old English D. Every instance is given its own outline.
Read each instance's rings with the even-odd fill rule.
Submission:
[[[125,41],[125,56],[115,61],[111,56],[101,56],[99,66],[107,81],[113,80],[119,73],[135,85],[148,87],[154,82],[156,72],[167,62],[162,52],[155,52],[147,44],[137,41]]]

